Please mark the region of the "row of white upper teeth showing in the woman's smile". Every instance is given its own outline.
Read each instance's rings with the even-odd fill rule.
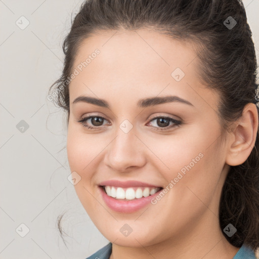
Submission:
[[[155,194],[159,189],[160,188],[158,188],[158,187],[156,187],[156,188],[145,187],[144,189],[141,187],[138,187],[135,191],[134,188],[121,188],[121,187],[114,187],[114,186],[105,186],[105,191],[108,196],[116,198],[116,199],[127,199],[127,200],[148,197],[149,195]]]

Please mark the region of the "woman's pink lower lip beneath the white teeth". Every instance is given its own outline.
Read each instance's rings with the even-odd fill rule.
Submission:
[[[151,199],[157,196],[163,189],[160,191],[149,195],[148,197],[143,197],[140,199],[133,199],[133,200],[117,200],[113,197],[110,197],[106,194],[103,187],[99,186],[101,191],[102,197],[107,204],[107,206],[117,212],[124,212],[124,213],[132,213],[141,208],[144,208],[147,204],[151,203]]]

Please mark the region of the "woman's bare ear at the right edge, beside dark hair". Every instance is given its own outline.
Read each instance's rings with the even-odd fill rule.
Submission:
[[[229,138],[229,149],[226,156],[228,165],[242,164],[250,155],[258,131],[258,112],[256,105],[248,103],[242,116],[235,122],[234,130]]]

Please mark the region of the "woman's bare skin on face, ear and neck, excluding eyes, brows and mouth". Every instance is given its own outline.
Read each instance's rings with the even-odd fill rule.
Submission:
[[[199,81],[192,44],[144,28],[99,31],[82,42],[73,69],[96,49],[100,54],[70,82],[67,154],[71,172],[81,177],[74,186],[80,202],[113,243],[110,258],[233,258],[239,248],[222,234],[219,200],[230,165],[245,161],[254,145],[255,105],[245,107],[223,141],[217,113],[220,96]],[[185,73],[179,82],[171,76],[177,67]],[[139,99],[167,95],[192,106],[137,106]],[[110,108],[72,104],[79,96],[104,99]],[[96,131],[78,122],[90,115],[105,118]],[[151,115],[183,123],[168,128],[170,122],[168,130],[159,131],[162,126],[156,119],[149,122]],[[133,125],[128,133],[119,127],[125,119]],[[91,119],[88,125],[98,127]],[[203,157],[155,205],[119,213],[100,195],[98,184],[111,179],[165,188],[199,153]],[[133,230],[127,237],[120,232],[124,224]]]

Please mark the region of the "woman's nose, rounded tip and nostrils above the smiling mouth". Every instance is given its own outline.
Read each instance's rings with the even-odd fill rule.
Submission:
[[[124,133],[120,128],[116,131],[116,137],[107,146],[104,163],[114,171],[127,172],[135,167],[142,167],[146,163],[145,145],[131,130]]]

